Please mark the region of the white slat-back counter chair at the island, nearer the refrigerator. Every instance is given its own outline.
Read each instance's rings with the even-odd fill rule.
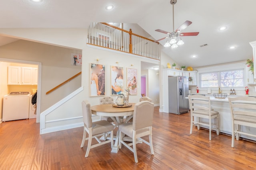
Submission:
[[[209,127],[209,140],[211,140],[211,131],[216,129],[217,135],[219,135],[219,112],[211,109],[210,97],[202,95],[188,96],[190,104],[190,134],[192,134],[193,124],[197,125],[200,129],[200,125]],[[197,119],[195,120],[195,117]],[[200,118],[208,119],[208,122],[200,121]],[[215,120],[215,124],[212,124],[212,119]],[[215,125],[212,128],[212,125]]]

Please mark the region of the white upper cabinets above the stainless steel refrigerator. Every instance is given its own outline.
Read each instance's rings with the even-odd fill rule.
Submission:
[[[192,77],[192,81],[189,81],[190,86],[196,86],[197,85],[197,71],[182,71],[182,70],[176,70],[172,68],[165,68],[163,69],[163,73],[166,73],[168,76],[187,76]],[[163,74],[163,75],[166,75]]]

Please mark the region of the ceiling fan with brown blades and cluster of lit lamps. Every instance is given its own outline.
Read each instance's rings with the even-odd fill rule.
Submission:
[[[178,29],[176,29],[174,31],[174,4],[176,4],[177,0],[171,0],[170,3],[172,4],[172,32],[167,32],[167,31],[163,31],[162,29],[156,29],[155,31],[158,31],[160,33],[165,33],[168,34],[167,37],[161,38],[156,40],[155,42],[161,41],[163,39],[167,39],[166,43],[164,44],[164,47],[172,47],[172,48],[176,48],[178,47],[178,45],[182,45],[184,44],[184,42],[182,41],[181,37],[182,36],[196,36],[199,34],[199,32],[190,32],[190,33],[181,33],[181,31],[183,29],[185,29],[186,27],[188,27],[192,22],[191,21],[185,21],[184,23],[182,23],[182,25],[180,25],[180,27],[178,27]]]

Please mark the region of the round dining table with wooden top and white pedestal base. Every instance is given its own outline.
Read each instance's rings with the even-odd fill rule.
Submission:
[[[130,107],[122,107],[116,106],[113,104],[100,104],[96,106],[91,106],[92,114],[98,116],[107,116],[111,117],[114,121],[114,127],[118,127],[121,123],[127,123],[133,116],[134,105],[135,103],[129,103]],[[125,121],[123,121],[123,117],[126,116]],[[117,153],[119,150],[119,131],[116,132],[115,143],[112,147],[111,152]]]

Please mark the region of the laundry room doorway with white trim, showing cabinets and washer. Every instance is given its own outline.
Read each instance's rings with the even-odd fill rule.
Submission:
[[[10,111],[16,114],[26,112],[27,116],[23,116],[22,119],[36,119],[36,123],[40,122],[41,68],[42,64],[39,62],[0,58],[0,121],[5,121],[5,118],[6,121],[18,119],[18,115],[7,118],[6,115]],[[37,92],[36,105],[31,102],[35,92]],[[24,93],[28,96],[26,105],[29,109],[26,111],[18,107],[19,95]],[[12,106],[7,106],[8,102],[4,102],[4,99],[13,100],[17,104],[12,103]],[[17,111],[12,110],[15,109],[14,106]]]

